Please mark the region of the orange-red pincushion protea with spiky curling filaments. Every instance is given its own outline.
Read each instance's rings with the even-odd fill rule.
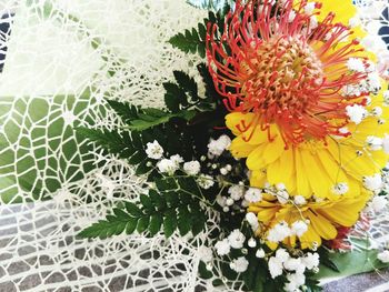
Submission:
[[[286,148],[310,139],[325,140],[347,123],[346,107],[363,104],[368,92],[341,94],[346,85],[366,79],[366,72],[350,71],[346,63],[362,49],[329,13],[316,21],[319,3],[306,0],[237,1],[226,19],[225,32],[208,27],[207,58],[218,92],[233,112],[251,112],[247,132],[260,125],[271,140],[270,124],[278,125]],[[311,11],[307,7],[311,7]],[[369,67],[366,58],[365,68]],[[247,133],[250,139],[252,133]]]

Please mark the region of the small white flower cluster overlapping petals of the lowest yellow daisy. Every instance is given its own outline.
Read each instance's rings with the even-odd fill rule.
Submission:
[[[308,230],[308,220],[302,221],[298,220],[291,224],[289,228],[288,223],[285,221],[281,221],[280,223],[276,224],[272,229],[269,230],[268,232],[268,241],[270,242],[281,242],[286,238],[290,235],[298,235],[302,236],[303,233],[307,232]]]

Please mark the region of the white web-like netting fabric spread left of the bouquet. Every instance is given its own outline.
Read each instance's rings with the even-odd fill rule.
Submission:
[[[211,281],[197,276],[199,246],[211,230],[196,241],[74,238],[116,202],[136,198],[143,181],[123,161],[93,154],[72,127],[117,125],[104,103],[108,91],[161,105],[162,82],[172,70],[194,75],[199,62],[167,40],[206,11],[184,0],[9,0],[0,11],[0,26],[10,27],[0,34],[0,54],[7,48],[0,74],[0,291],[212,291]]]

